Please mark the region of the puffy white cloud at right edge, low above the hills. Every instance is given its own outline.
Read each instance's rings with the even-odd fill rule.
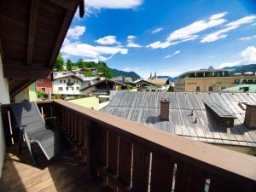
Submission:
[[[218,66],[218,68],[223,67],[233,67],[236,65],[242,64],[252,64],[256,62],[256,47],[249,46],[246,49],[243,49],[240,53],[241,60],[240,61],[233,61],[233,62],[225,62]]]

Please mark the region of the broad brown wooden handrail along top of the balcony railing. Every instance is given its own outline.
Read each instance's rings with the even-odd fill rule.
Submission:
[[[174,156],[178,160],[200,167],[203,171],[214,172],[222,177],[230,177],[234,182],[240,181],[252,186],[256,183],[254,174],[256,172],[256,162],[253,156],[218,148],[207,143],[192,141],[173,134],[166,134],[164,131],[158,131],[107,113],[83,108],[73,103],[61,100],[55,100],[54,102],[62,108],[76,111],[85,119],[97,122],[102,128],[108,127],[108,130],[116,131],[121,137],[143,143],[144,148],[154,148],[154,151],[157,150]]]

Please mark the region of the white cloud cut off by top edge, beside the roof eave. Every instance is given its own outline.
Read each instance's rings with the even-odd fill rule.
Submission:
[[[87,0],[85,4],[89,9],[134,9],[142,3],[143,0]]]

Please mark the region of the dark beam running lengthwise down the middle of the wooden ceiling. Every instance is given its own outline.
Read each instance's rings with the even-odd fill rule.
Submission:
[[[27,37],[27,57],[26,57],[27,65],[32,64],[33,46],[34,46],[37,20],[38,20],[39,3],[40,1],[38,0],[31,0],[31,3],[30,3],[30,16],[29,16],[28,37]]]

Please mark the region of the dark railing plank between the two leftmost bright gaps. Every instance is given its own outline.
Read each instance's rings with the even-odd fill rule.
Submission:
[[[164,154],[152,154],[151,192],[172,191],[173,161]]]

